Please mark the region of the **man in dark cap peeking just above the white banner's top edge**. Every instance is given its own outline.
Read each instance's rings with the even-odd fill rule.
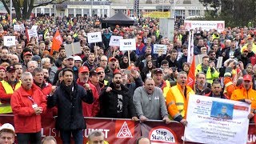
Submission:
[[[214,97],[214,98],[224,98],[226,99],[226,96],[222,93],[222,86],[221,82],[214,81],[211,85],[211,91],[209,94],[205,94],[208,97]]]

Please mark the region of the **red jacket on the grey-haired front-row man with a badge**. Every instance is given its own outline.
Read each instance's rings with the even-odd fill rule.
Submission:
[[[35,84],[32,86],[32,98],[34,102],[41,106],[43,112],[46,111],[46,96]],[[14,92],[10,99],[10,105],[14,113],[14,126],[16,133],[37,133],[41,130],[41,115],[36,115],[32,108],[33,101],[30,94],[20,87]]]

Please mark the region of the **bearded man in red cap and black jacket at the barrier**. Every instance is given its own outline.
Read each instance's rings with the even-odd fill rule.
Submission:
[[[99,96],[100,113],[102,118],[132,118],[137,121],[134,103],[130,90],[122,85],[122,74],[114,71],[114,78],[110,86],[102,90]]]

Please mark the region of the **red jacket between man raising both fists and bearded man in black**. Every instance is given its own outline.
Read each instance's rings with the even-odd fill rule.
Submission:
[[[84,82],[80,82],[80,79],[77,80],[78,85],[82,86],[85,84]],[[94,102],[92,104],[88,104],[86,102],[82,102],[82,115],[84,117],[95,117],[99,111],[99,103],[98,103],[98,91],[96,87],[88,83],[90,85],[91,92],[94,96]]]

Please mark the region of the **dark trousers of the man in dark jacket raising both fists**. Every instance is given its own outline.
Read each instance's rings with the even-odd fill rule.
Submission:
[[[82,144],[82,130],[60,130],[63,144],[70,144],[71,134],[75,144]]]

